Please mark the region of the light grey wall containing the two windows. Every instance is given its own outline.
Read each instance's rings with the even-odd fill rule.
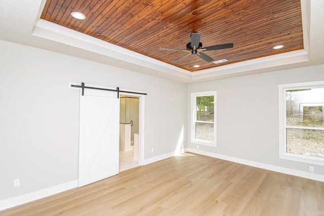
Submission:
[[[217,147],[199,146],[199,150],[308,171],[310,164],[278,157],[278,84],[324,80],[323,71],[324,65],[318,65],[189,84],[188,128],[190,93],[217,91]],[[196,149],[190,143],[189,129],[187,136],[187,147]],[[324,175],[323,166],[313,166],[314,174]]]

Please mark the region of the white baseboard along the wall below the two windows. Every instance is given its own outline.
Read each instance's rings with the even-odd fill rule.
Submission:
[[[201,155],[205,155],[205,156],[228,160],[228,161],[232,161],[235,163],[241,163],[241,164],[254,166],[254,167],[258,167],[258,168],[262,168],[262,169],[268,169],[271,171],[281,172],[281,173],[288,174],[288,175],[293,175],[293,176],[298,176],[298,177],[302,177],[302,178],[306,178],[306,179],[312,179],[312,180],[324,182],[324,176],[319,175],[319,174],[312,174],[309,172],[300,171],[300,170],[296,170],[296,169],[290,169],[290,168],[270,165],[270,164],[266,164],[266,163],[255,162],[255,161],[241,159],[241,158],[237,158],[237,157],[230,157],[230,156],[226,156],[226,155],[201,151],[201,150],[192,149],[192,148],[186,148],[184,150],[187,152],[192,152],[192,153],[196,153],[196,154],[201,154]]]

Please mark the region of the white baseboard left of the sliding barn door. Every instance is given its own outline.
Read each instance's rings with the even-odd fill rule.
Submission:
[[[17,205],[21,205],[27,202],[31,202],[34,201],[36,199],[41,199],[47,196],[51,196],[63,191],[67,191],[70,190],[72,188],[76,188],[78,181],[72,181],[72,182],[67,182],[64,184],[60,184],[60,185],[56,185],[53,187],[49,187],[49,188],[45,188],[42,190],[38,190],[38,191],[34,191],[28,194],[24,194],[21,196],[16,196],[13,198],[9,198],[9,199],[4,199],[4,200],[0,200],[0,210],[4,210],[7,208],[11,208]]]

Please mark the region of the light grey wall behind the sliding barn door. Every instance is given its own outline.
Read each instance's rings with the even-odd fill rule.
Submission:
[[[0,50],[0,201],[77,180],[79,92],[69,81],[147,92],[144,157],[176,150],[186,84],[3,40]]]

